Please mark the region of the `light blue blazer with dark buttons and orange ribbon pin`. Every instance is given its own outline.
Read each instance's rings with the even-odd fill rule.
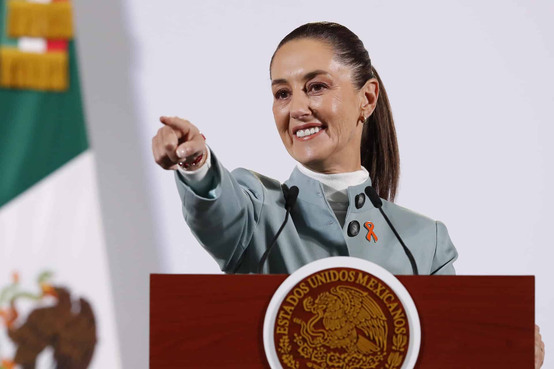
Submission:
[[[229,172],[213,150],[211,156],[210,170],[215,175],[206,194],[195,193],[175,171],[184,220],[223,272],[256,273],[262,254],[285,219],[283,189],[279,181],[244,168]],[[348,187],[350,206],[343,227],[320,181],[295,168],[285,184],[298,186],[299,195],[263,273],[292,273],[317,259],[353,256],[393,274],[412,274],[409,259],[381,212],[365,195],[358,196],[356,203],[356,195],[364,193],[371,179]],[[366,198],[363,204],[361,197]],[[412,252],[419,274],[455,274],[458,252],[445,225],[382,201],[382,209]]]

